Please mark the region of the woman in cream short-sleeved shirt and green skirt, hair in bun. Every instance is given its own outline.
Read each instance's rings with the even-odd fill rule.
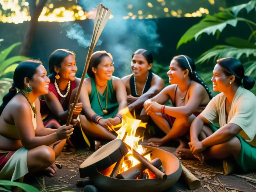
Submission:
[[[191,124],[191,151],[182,150],[182,158],[191,158],[193,153],[201,162],[225,159],[226,174],[232,172],[228,163],[232,160],[244,172],[255,171],[256,97],[249,91],[255,81],[244,75],[243,65],[236,58],[217,60],[211,80],[213,90],[221,93]],[[219,123],[220,128],[211,123]]]

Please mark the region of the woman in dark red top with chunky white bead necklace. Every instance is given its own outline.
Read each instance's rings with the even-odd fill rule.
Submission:
[[[49,57],[49,92],[40,96],[40,111],[45,127],[58,128],[60,124],[67,122],[73,105],[70,103],[70,95],[80,83],[80,79],[76,78],[75,57],[72,51],[66,49],[57,49]],[[73,113],[73,121],[81,111],[82,103],[78,103]],[[69,139],[68,143],[72,146]]]

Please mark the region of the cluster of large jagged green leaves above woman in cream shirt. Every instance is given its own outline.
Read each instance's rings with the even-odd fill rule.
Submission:
[[[196,61],[196,63],[209,63],[223,57],[235,57],[240,60],[245,69],[246,75],[253,78],[256,77],[256,23],[253,20],[238,17],[241,10],[246,9],[247,13],[252,10],[256,11],[256,1],[249,1],[241,5],[233,6],[215,15],[207,15],[199,23],[189,28],[186,33],[180,38],[177,49],[182,45],[195,39],[198,41],[202,34],[215,35],[219,38],[220,33],[227,25],[236,27],[238,22],[245,22],[248,25],[248,30],[251,30],[251,35],[248,39],[238,37],[228,37],[225,42],[228,45],[216,45],[215,47],[204,52]],[[208,73],[212,76],[212,72]],[[206,80],[207,82],[208,80]],[[253,92],[253,91],[252,91]]]

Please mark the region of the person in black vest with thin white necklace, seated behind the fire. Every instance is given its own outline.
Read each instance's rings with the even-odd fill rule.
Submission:
[[[140,115],[143,122],[148,121],[143,103],[164,88],[164,80],[152,73],[152,65],[152,54],[145,49],[138,49],[132,54],[131,69],[133,73],[122,78],[128,95],[129,110],[135,110],[135,114]]]

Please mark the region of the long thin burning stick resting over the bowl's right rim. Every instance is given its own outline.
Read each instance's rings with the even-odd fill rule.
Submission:
[[[167,179],[167,175],[163,172],[161,172],[159,169],[154,167],[145,157],[143,157],[141,154],[139,154],[136,150],[132,149],[129,145],[124,143],[128,149],[132,151],[133,156],[141,162],[143,165],[145,165],[149,170],[151,170],[157,177],[161,179]]]

